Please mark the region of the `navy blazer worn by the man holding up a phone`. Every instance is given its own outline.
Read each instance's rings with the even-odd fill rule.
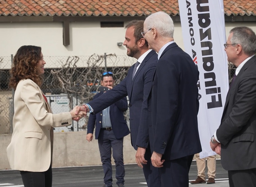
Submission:
[[[97,93],[93,99],[101,96],[103,92]],[[128,109],[127,99],[122,98],[120,101],[117,101],[115,104],[111,105],[109,108],[109,115],[112,130],[117,139],[123,138],[124,136],[130,133],[127,123],[124,119],[124,112]],[[97,113],[96,115],[90,115],[88,120],[87,134],[93,133],[94,126],[96,122],[95,128],[95,139],[98,139],[100,128],[102,125],[102,111]]]

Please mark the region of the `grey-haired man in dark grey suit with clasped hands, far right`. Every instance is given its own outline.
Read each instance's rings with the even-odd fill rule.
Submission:
[[[221,154],[230,187],[256,186],[256,35],[248,27],[230,30],[224,44],[237,68],[230,84],[221,123],[210,146]]]

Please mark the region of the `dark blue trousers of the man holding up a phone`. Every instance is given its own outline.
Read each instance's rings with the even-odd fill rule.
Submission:
[[[124,184],[124,157],[123,157],[124,138],[116,139],[113,131],[100,129],[98,138],[100,157],[104,171],[104,183],[112,186],[112,165],[111,165],[111,147],[113,158],[116,164],[116,184]]]

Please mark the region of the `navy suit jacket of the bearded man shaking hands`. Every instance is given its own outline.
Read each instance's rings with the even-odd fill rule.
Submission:
[[[90,101],[94,113],[98,113],[104,108],[128,96],[130,110],[130,130],[131,143],[135,150],[137,146],[148,147],[148,110],[147,98],[152,87],[152,79],[156,69],[157,53],[150,51],[141,62],[134,78],[132,72],[134,65],[128,71],[127,76],[120,84],[107,91],[99,98]],[[137,146],[136,146],[137,145]]]

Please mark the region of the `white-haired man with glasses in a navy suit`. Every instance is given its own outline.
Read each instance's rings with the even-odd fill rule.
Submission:
[[[144,38],[159,59],[148,110],[152,116],[151,160],[159,168],[162,187],[188,186],[193,155],[202,151],[197,125],[199,72],[174,42],[173,31],[172,18],[164,12],[154,13],[144,22]]]

